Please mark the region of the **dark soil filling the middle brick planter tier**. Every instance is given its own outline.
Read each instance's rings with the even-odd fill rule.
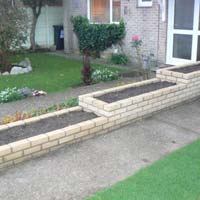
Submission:
[[[123,99],[127,99],[130,97],[138,96],[140,94],[145,94],[148,92],[153,92],[155,90],[159,90],[162,88],[167,88],[170,86],[176,85],[175,83],[170,83],[167,81],[160,81],[156,83],[151,83],[147,85],[142,85],[139,87],[132,87],[132,88],[127,88],[125,90],[119,91],[119,92],[111,92],[99,97],[96,97],[97,99],[107,102],[107,103],[113,103],[116,101],[120,101]]]

